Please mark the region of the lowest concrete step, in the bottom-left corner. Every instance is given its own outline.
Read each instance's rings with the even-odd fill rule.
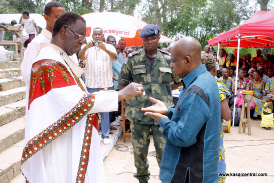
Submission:
[[[0,153],[0,169],[3,169],[7,173],[10,180],[14,179],[21,173],[20,165],[23,146],[24,140],[21,140],[12,147]],[[9,180],[3,171],[0,171],[0,182],[9,183]]]

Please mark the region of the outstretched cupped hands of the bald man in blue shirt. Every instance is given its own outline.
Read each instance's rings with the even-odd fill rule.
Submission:
[[[164,114],[167,114],[169,111],[168,107],[166,106],[164,102],[152,97],[150,97],[150,101],[155,103],[155,105],[141,109],[142,111],[146,111],[144,114],[145,116],[151,116],[153,119],[157,121],[160,121],[164,117],[168,118],[167,116],[164,115]]]

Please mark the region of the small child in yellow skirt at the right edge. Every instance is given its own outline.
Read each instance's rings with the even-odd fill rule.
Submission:
[[[267,94],[265,97],[265,102],[262,100],[262,116],[260,126],[270,130],[273,127],[273,113],[272,113],[272,100],[274,100],[274,95]]]

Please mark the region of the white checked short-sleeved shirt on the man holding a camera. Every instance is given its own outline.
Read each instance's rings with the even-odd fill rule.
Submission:
[[[116,53],[112,45],[105,44],[107,50]],[[108,88],[113,86],[112,82],[112,59],[109,55],[94,46],[87,49],[85,53],[86,86],[89,88]]]

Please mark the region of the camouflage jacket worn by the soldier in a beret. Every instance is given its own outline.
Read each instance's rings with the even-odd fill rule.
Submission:
[[[149,100],[154,97],[163,101],[167,106],[173,106],[170,79],[175,83],[181,82],[176,78],[170,67],[171,57],[168,53],[157,50],[153,65],[149,61],[144,49],[132,52],[127,63],[123,64],[119,74],[118,83],[128,85],[129,82],[140,83],[144,86],[146,95],[138,95],[126,101],[125,116],[130,121],[140,124],[156,124],[150,116],[144,116],[142,107],[152,106]]]

